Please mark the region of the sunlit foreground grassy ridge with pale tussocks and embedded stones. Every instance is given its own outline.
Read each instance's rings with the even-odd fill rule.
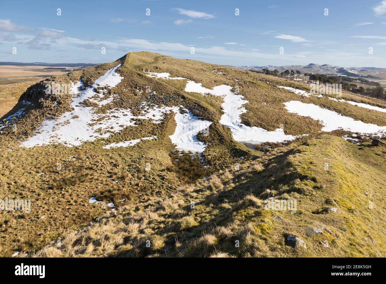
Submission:
[[[384,257],[385,151],[322,135],[100,216],[35,256]],[[270,197],[295,199],[296,213],[265,210]]]

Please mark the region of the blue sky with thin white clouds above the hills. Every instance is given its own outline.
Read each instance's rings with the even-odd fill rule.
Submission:
[[[0,1],[0,61],[104,63],[152,51],[236,66],[386,68],[385,31],[386,0]]]

